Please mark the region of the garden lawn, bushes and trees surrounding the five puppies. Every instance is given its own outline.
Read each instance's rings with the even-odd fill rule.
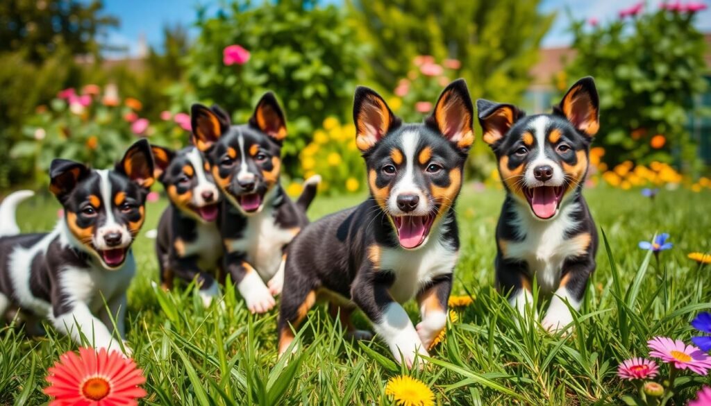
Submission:
[[[2,1],[0,196],[18,188],[46,191],[55,157],[105,167],[139,137],[182,146],[193,102],[217,103],[233,122],[244,122],[263,92],[274,90],[289,129],[282,183],[296,196],[304,178],[324,178],[309,213],[316,219],[367,191],[351,118],[356,85],[374,87],[395,114],[419,121],[456,78],[467,80],[474,98],[536,113],[549,111],[575,80],[592,75],[602,125],[586,193],[611,239],[611,255],[604,247],[599,252],[584,306],[590,336],[541,338],[531,329],[506,338],[514,316],[500,309],[503,299],[491,289],[493,225],[503,189],[493,154],[478,139],[458,206],[466,244],[455,285],[476,299],[435,355],[448,365],[415,374],[442,403],[619,402],[632,390],[615,380],[616,365],[645,356],[653,334],[688,338],[688,321],[711,306],[708,269],[687,257],[711,250],[711,34],[700,21],[707,4],[630,3],[614,16],[578,18],[578,2],[557,1],[554,8],[546,2],[220,1],[186,9],[188,25],[166,24],[162,43],[140,41],[128,52],[109,41],[126,21],[100,1]],[[560,21],[570,41],[543,47]],[[154,24],[162,23],[156,15]],[[164,205],[162,198],[149,203],[144,231]],[[23,208],[19,223],[25,231],[47,230],[58,208],[44,192]],[[678,242],[675,252],[651,262],[637,242],[664,231]],[[139,239],[144,270],[129,294],[129,341],[149,374],[146,403],[387,402],[384,383],[398,369],[377,341],[363,348],[319,338],[338,327],[316,317],[312,349],[294,368],[274,365],[274,314],[249,316],[239,300],[225,297],[235,310],[214,316],[194,306],[189,289],[154,291],[151,242]],[[181,306],[186,314],[171,311]],[[501,318],[507,320],[497,328]],[[215,330],[224,331],[216,344]],[[21,337],[0,331],[2,404],[46,402],[38,368],[51,365],[59,348],[72,348],[55,336]],[[188,337],[192,341],[181,339]],[[319,365],[328,366],[319,371]],[[289,379],[277,379],[280,373]],[[287,383],[282,388],[277,381]],[[684,381],[674,404],[692,398],[704,382]]]

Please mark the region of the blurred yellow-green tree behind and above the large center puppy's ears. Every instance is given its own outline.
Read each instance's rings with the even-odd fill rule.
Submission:
[[[394,88],[415,56],[432,55],[460,60],[458,74],[475,97],[507,102],[516,102],[528,86],[528,70],[553,19],[539,13],[539,1],[349,3],[360,41],[371,47],[368,76],[380,87]]]

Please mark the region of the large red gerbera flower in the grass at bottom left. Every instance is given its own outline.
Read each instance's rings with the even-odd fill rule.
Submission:
[[[146,382],[142,373],[119,351],[79,348],[78,356],[64,353],[49,368],[45,393],[55,398],[49,406],[134,406],[146,396],[139,388]]]

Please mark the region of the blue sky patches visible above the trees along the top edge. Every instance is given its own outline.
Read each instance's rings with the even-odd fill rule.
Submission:
[[[336,1],[338,0],[327,0]],[[565,46],[570,43],[566,32],[570,20],[566,9],[574,18],[598,18],[604,22],[617,18],[620,9],[635,4],[638,0],[542,0],[541,11],[555,11],[557,17],[552,29],[543,39],[543,46]],[[711,31],[711,3],[704,0],[710,9],[696,17],[697,26],[702,31]],[[684,1],[686,2],[686,1]],[[166,23],[182,23],[190,26],[196,15],[198,4],[213,4],[205,0],[105,0],[105,11],[117,16],[121,21],[118,29],[109,32],[107,41],[112,45],[126,46],[131,55],[137,53],[139,38],[143,35],[152,46],[159,46],[162,28]],[[648,6],[656,8],[661,0],[648,1]],[[109,55],[113,56],[113,55]]]

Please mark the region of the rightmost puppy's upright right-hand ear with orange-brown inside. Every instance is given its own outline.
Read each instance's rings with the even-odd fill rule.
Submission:
[[[588,76],[570,87],[555,112],[567,118],[579,132],[592,137],[600,128],[599,105],[595,81]]]

